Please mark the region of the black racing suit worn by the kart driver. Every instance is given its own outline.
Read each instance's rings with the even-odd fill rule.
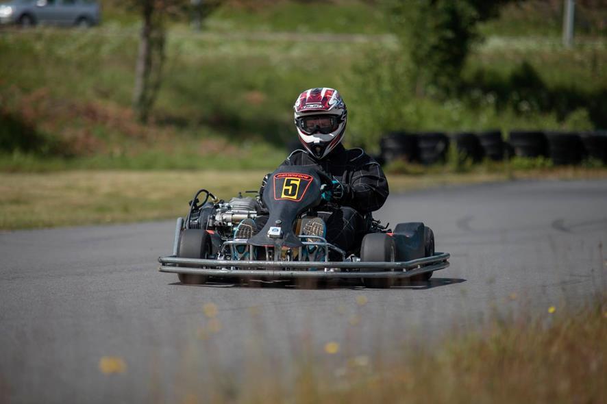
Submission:
[[[325,218],[327,241],[347,253],[356,253],[369,231],[371,212],[380,209],[388,197],[388,181],[380,164],[362,149],[345,149],[338,144],[323,160],[304,150],[293,151],[281,166],[314,166],[343,184],[343,198],[323,203],[319,210],[331,212]]]

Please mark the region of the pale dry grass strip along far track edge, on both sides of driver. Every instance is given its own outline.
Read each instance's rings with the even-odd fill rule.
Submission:
[[[417,170],[417,171],[415,171]],[[258,190],[267,170],[112,171],[0,173],[0,229],[129,223],[176,218],[199,188],[230,199],[238,191]],[[535,168],[457,173],[434,167],[388,173],[391,192],[511,179],[606,178],[605,168]]]

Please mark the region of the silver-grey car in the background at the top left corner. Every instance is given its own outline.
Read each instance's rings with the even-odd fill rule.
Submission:
[[[100,20],[99,3],[95,0],[0,1],[0,24],[92,27]]]

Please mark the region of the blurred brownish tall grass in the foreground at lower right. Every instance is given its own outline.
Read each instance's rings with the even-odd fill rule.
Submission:
[[[504,305],[512,305],[512,295]],[[454,327],[438,342],[410,332],[371,353],[345,340],[323,350],[300,344],[281,367],[270,352],[256,351],[244,382],[212,366],[222,338],[221,314],[203,306],[196,355],[188,356],[174,401],[186,403],[604,403],[607,401],[607,298],[582,306],[557,305],[541,312],[494,314],[473,330]],[[358,312],[367,298],[358,296]],[[508,310],[504,310],[508,311]],[[362,310],[364,312],[364,310]],[[263,326],[251,310],[255,332]],[[260,335],[256,335],[260,333]],[[208,352],[208,357],[203,352]],[[205,359],[201,359],[204,357]],[[313,358],[313,359],[312,359]],[[210,362],[209,362],[210,361]],[[200,362],[200,363],[198,363]],[[199,368],[196,368],[199,366]],[[293,375],[294,376],[290,376]],[[223,377],[222,377],[223,376]],[[155,391],[158,396],[166,396]]]

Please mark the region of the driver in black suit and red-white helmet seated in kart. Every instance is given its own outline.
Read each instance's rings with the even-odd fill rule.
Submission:
[[[324,195],[325,202],[319,207],[327,212],[325,220],[316,219],[302,233],[325,236],[347,253],[355,253],[369,232],[371,212],[380,209],[388,197],[386,176],[380,164],[362,149],[343,147],[347,108],[337,90],[310,88],[299,94],[293,110],[303,149],[290,153],[281,166],[312,166],[333,182],[332,192]],[[264,178],[260,195],[268,177]],[[258,218],[256,229],[266,220]]]

